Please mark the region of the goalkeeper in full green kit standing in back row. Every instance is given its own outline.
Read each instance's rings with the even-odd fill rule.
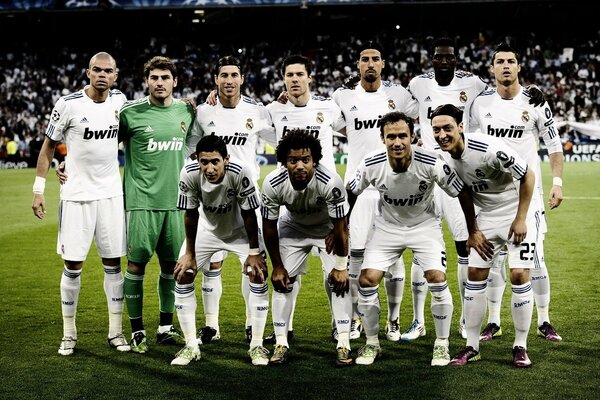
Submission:
[[[125,144],[125,210],[128,263],[125,301],[131,322],[131,350],[148,350],[143,322],[144,274],[156,251],[160,264],[158,296],[159,344],[179,344],[173,327],[175,280],[173,270],[185,239],[183,212],[177,209],[179,171],[185,142],[194,121],[191,106],[173,97],[177,67],[156,56],[144,65],[149,96],[123,106],[119,137]]]

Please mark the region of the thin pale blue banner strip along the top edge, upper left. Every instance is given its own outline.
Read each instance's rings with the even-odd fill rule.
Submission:
[[[414,0],[406,0],[414,2]],[[358,3],[390,3],[391,0],[9,0],[0,1],[0,10],[33,10],[33,9],[89,9],[120,8],[208,8],[231,6],[261,5],[324,5],[324,4],[358,4]]]

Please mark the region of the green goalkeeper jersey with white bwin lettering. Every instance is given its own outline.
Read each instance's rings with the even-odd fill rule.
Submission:
[[[168,107],[148,97],[127,102],[119,117],[125,144],[125,209],[177,210],[179,173],[194,121],[192,107],[174,99]]]

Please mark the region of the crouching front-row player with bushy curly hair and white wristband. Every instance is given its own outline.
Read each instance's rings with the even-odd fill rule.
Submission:
[[[271,281],[275,350],[270,362],[283,364],[289,355],[288,323],[292,286],[306,273],[307,257],[319,249],[331,290],[331,311],[338,330],[336,363],[353,363],[350,355],[352,300],[348,295],[348,202],[342,179],[319,164],[319,141],[294,129],[277,146],[281,166],[269,173],[262,186],[261,213],[265,246],[273,270]],[[286,212],[280,213],[281,207]],[[333,254],[332,254],[333,253]]]

